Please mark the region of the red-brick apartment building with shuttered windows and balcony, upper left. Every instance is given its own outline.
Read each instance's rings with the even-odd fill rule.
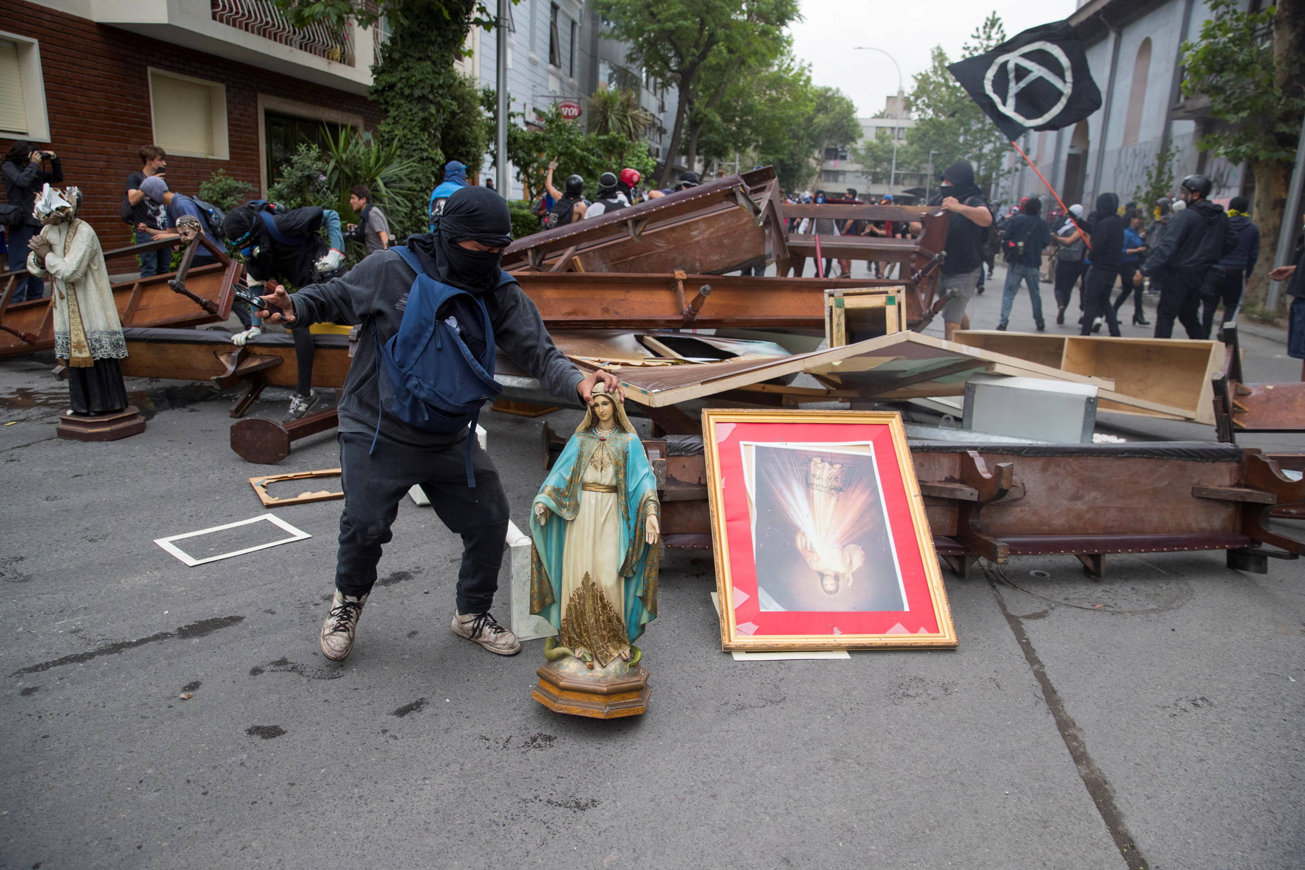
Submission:
[[[129,244],[123,183],[168,153],[194,193],[218,170],[265,190],[321,125],[369,129],[377,33],[294,30],[271,0],[0,0],[0,149],[63,159],[106,247]]]

